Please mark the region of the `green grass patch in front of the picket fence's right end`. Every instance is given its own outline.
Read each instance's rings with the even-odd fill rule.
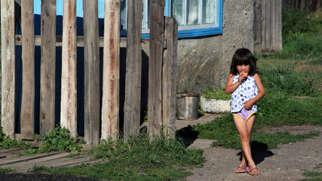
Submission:
[[[146,133],[119,139],[102,140],[102,144],[90,151],[93,157],[108,159],[94,165],[74,167],[34,166],[29,172],[72,174],[100,180],[179,180],[193,175],[185,167],[202,167],[205,161],[202,149],[185,148],[178,140],[164,136],[148,140]]]

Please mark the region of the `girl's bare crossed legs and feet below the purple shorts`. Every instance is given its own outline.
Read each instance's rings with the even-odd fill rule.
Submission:
[[[236,128],[239,132],[239,135],[241,137],[242,141],[242,164],[246,165],[246,161],[248,162],[248,165],[251,167],[255,165],[255,162],[253,161],[251,157],[251,132],[254,127],[256,114],[253,114],[246,122],[244,119],[233,115],[234,122],[236,125]],[[242,168],[238,168],[236,171],[241,171]],[[255,169],[251,172],[252,174],[260,174],[260,172]]]

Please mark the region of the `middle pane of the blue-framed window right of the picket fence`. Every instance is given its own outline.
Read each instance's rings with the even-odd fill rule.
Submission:
[[[200,24],[199,0],[187,0],[187,25]]]

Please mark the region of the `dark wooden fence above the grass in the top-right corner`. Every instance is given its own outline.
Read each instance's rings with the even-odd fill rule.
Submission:
[[[321,0],[282,0],[282,4],[286,8],[308,10],[309,12],[317,11],[321,3]]]

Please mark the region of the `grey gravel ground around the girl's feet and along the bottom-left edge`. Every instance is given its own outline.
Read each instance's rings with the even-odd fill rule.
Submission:
[[[322,127],[302,125],[302,126],[282,126],[275,128],[264,128],[263,131],[274,133],[276,131],[288,130],[291,134],[305,134],[309,131],[322,131]],[[261,130],[259,130],[261,131]],[[209,145],[209,140],[199,140]],[[196,141],[197,142],[197,141]],[[198,144],[196,144],[197,146]],[[191,146],[194,146],[192,143]],[[261,174],[251,176],[248,173],[235,173],[241,161],[241,151],[226,149],[222,147],[203,147],[206,162],[203,168],[187,169],[194,173],[185,178],[186,181],[209,181],[209,180],[246,180],[246,181],[284,181],[301,180],[310,178],[302,176],[306,171],[319,171],[313,168],[322,163],[322,135],[314,139],[306,139],[292,144],[280,144],[278,148],[268,151],[254,153],[253,159],[257,164]],[[70,175],[55,176],[51,174],[0,174],[1,181],[49,181],[49,180],[70,180],[70,181],[94,181],[95,179],[80,178]]]

